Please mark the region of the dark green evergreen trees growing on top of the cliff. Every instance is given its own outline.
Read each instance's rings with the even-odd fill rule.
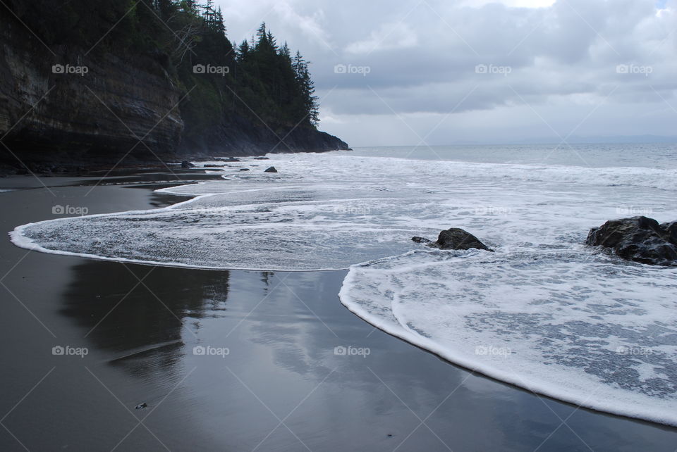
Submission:
[[[6,0],[6,6],[56,53],[152,58],[188,94],[185,134],[198,136],[235,116],[270,127],[319,121],[308,62],[278,44],[262,23],[233,46],[213,0]],[[216,67],[218,71],[197,70]],[[149,69],[152,70],[152,69]]]

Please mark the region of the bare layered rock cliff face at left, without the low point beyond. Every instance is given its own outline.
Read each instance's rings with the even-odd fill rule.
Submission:
[[[181,92],[152,58],[48,49],[0,27],[0,137],[22,161],[147,159],[178,149]]]

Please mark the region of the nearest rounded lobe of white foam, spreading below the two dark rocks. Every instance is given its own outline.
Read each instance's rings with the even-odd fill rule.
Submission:
[[[341,302],[453,363],[677,425],[677,270],[542,250],[415,252],[353,265]]]

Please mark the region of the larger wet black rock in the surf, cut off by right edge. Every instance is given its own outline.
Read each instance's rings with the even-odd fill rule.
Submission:
[[[677,265],[677,222],[659,225],[647,217],[610,220],[601,227],[593,227],[585,243],[612,249],[626,260]]]

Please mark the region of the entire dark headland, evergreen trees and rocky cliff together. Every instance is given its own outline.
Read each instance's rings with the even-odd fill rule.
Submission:
[[[0,152],[31,161],[347,149],[317,131],[300,52],[264,23],[233,44],[226,21],[212,0],[7,0]]]

